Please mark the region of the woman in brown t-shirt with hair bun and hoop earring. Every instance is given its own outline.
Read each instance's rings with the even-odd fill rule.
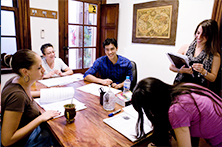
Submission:
[[[40,114],[30,90],[31,85],[43,77],[41,57],[22,49],[13,55],[11,65],[18,76],[8,80],[2,89],[2,145],[52,146],[52,135],[44,122],[59,112],[49,110]]]

